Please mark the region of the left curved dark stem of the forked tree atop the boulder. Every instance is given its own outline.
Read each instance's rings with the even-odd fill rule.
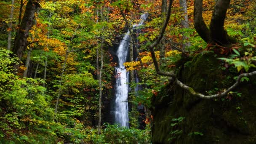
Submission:
[[[211,43],[210,31],[203,20],[203,0],[194,1],[194,26],[198,35],[206,43]]]

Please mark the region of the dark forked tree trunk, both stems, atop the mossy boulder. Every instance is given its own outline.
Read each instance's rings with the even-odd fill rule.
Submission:
[[[229,37],[224,29],[224,22],[230,0],[217,0],[211,18],[210,29],[203,20],[203,0],[195,0],[194,3],[194,26],[197,33],[206,43],[229,47],[235,43],[235,39]]]

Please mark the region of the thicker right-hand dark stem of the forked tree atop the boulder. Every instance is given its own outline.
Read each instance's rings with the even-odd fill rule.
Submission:
[[[232,42],[224,29],[224,21],[229,7],[230,0],[217,0],[210,24],[210,37],[214,43],[229,45]]]

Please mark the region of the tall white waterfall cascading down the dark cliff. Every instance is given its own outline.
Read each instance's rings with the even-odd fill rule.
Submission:
[[[134,24],[133,29],[139,27],[147,19],[148,14],[141,15],[141,21],[139,24]],[[128,127],[128,89],[129,89],[129,72],[126,72],[125,63],[128,50],[130,47],[130,32],[125,34],[121,41],[116,55],[118,57],[118,67],[115,67],[116,73],[116,86],[115,86],[115,122],[123,127]]]

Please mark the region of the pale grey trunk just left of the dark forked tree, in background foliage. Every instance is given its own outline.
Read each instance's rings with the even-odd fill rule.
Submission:
[[[184,19],[181,19],[181,27],[183,28],[189,28],[189,18],[187,15],[187,0],[179,0],[179,6],[181,7],[181,12],[184,13]],[[189,48],[191,43],[189,41],[186,41],[189,37],[184,35],[182,36],[182,47],[181,50],[185,51],[186,48]],[[185,42],[184,42],[185,41]]]

